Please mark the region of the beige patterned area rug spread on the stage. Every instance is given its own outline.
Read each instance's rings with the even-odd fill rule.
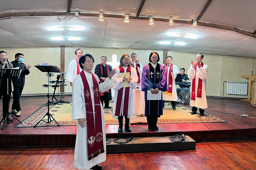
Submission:
[[[112,118],[113,113],[113,105],[114,103],[109,103],[111,106],[110,109],[104,109],[104,117],[106,125],[114,125],[118,124],[118,120]],[[22,124],[18,124],[15,127],[33,127],[38,123],[47,113],[47,105],[43,105],[41,108],[36,110],[36,112],[32,113],[32,115],[28,116],[26,119],[22,121]],[[55,120],[59,123],[60,126],[74,126],[77,125],[76,120],[71,119],[72,115],[72,103],[59,103],[55,105],[50,105],[50,113],[55,118]],[[182,103],[177,105],[176,110],[173,111],[171,109],[171,105],[166,103],[165,109],[163,110],[163,116],[158,118],[158,123],[214,123],[214,122],[227,122],[226,120],[220,119],[210,113],[204,113],[205,116],[199,115],[191,115],[191,107],[185,106]],[[199,112],[198,112],[199,114]],[[43,118],[44,121],[47,122],[47,116]],[[50,123],[46,123],[41,121],[37,127],[40,126],[58,126],[55,121]],[[132,125],[136,124],[147,124],[146,117],[131,117],[130,123]]]

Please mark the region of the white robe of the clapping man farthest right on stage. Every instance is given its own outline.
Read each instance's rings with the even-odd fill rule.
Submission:
[[[201,63],[200,63],[201,64]],[[206,100],[206,79],[208,77],[208,65],[204,64],[203,68],[200,67],[198,68],[197,64],[195,67],[197,67],[196,71],[194,68],[192,68],[193,65],[191,64],[190,69],[188,70],[188,78],[192,79],[191,82],[191,89],[193,88],[193,79],[196,76],[196,100],[191,100],[191,96],[190,95],[190,106],[194,106],[197,108],[201,108],[201,109],[205,109],[208,108],[207,106],[207,100]],[[198,78],[203,80],[203,84],[202,84],[202,97],[198,98],[197,97],[197,87],[198,87]]]

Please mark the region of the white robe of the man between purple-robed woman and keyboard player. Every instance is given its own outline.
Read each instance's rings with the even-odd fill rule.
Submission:
[[[170,67],[171,67],[171,64],[170,64]],[[169,69],[170,69],[170,67],[168,67],[168,65],[167,65],[167,89],[169,88],[168,83],[169,83]],[[172,86],[172,88],[173,88],[173,95],[170,96],[170,95],[165,94],[163,92],[163,100],[164,101],[177,101],[178,100],[177,91],[176,91],[176,85],[175,85],[175,78],[176,78],[178,73],[179,73],[179,69],[178,69],[177,65],[173,64],[173,72],[171,72],[171,76],[173,77],[173,86]]]

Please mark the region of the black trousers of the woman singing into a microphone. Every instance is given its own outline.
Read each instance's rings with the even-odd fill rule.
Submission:
[[[1,87],[0,87],[0,101],[1,98],[3,96],[3,117],[5,117],[7,115],[7,113],[9,112],[9,103],[11,100],[11,94],[12,94],[12,82],[11,79],[9,78],[8,81],[8,94],[7,94],[7,79],[2,79],[1,82]],[[8,96],[9,95],[9,96]]]

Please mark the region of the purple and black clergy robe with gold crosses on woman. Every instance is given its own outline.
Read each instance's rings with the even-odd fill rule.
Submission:
[[[154,77],[154,81],[157,79],[157,68],[160,66],[160,76],[159,82],[157,84],[152,84],[150,82],[150,67],[151,63],[145,65],[142,70],[142,77],[141,77],[141,91],[144,91],[145,95],[145,116],[148,117],[150,114],[154,114],[160,118],[161,115],[163,115],[163,96],[162,100],[154,101],[154,105],[150,105],[150,101],[147,100],[147,91],[150,90],[150,88],[158,88],[160,89],[159,93],[162,93],[161,91],[167,91],[167,77],[165,74],[165,68],[163,65],[160,65],[157,63],[157,67],[154,68],[154,74],[152,75]],[[151,65],[152,67],[152,65]]]

